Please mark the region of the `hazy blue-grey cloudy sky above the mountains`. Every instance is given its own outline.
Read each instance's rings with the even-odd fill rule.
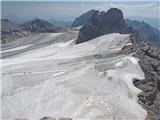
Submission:
[[[109,8],[119,8],[123,11],[124,17],[146,17],[160,19],[160,2],[158,1],[140,1],[124,0],[123,2],[116,1],[84,1],[84,0],[70,0],[70,1],[7,1],[3,0],[1,3],[1,16],[6,18],[8,16],[32,19],[56,19],[63,21],[73,21],[82,13],[91,9],[100,11],[107,11]],[[122,0],[121,0],[122,1]],[[133,2],[134,1],[134,2]]]

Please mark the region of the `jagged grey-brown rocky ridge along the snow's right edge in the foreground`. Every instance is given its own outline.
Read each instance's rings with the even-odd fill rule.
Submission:
[[[145,79],[134,79],[134,85],[143,92],[138,95],[139,103],[148,111],[148,120],[160,119],[160,48],[154,44],[139,42],[134,35],[133,45],[124,47],[123,53],[135,52],[139,65],[145,73]]]

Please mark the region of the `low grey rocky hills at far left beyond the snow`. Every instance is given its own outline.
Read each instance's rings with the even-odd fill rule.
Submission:
[[[67,28],[54,26],[46,20],[33,19],[23,24],[1,19],[1,43],[8,43],[31,34],[66,31]]]

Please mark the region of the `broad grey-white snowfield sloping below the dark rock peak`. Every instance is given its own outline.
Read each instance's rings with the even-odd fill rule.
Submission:
[[[144,120],[147,112],[137,102],[141,91],[132,82],[144,73],[136,58],[117,54],[130,44],[130,35],[113,33],[75,45],[74,33],[51,42],[68,34],[42,34],[30,38],[41,41],[32,49],[23,41],[1,52],[2,119]]]

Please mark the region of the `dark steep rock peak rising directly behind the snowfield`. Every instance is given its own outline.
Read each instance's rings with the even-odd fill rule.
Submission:
[[[126,33],[127,27],[120,9],[111,8],[107,12],[94,11],[79,31],[77,44],[109,33]]]

